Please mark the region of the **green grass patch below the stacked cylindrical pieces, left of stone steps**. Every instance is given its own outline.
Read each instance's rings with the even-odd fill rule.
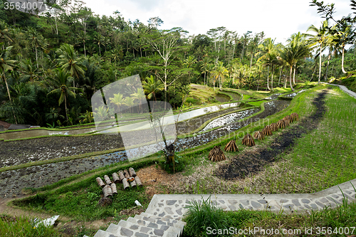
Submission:
[[[120,214],[120,211],[136,206],[135,200],[146,207],[150,202],[142,186],[124,191],[122,184],[117,184],[117,195],[110,198],[112,204],[108,207],[98,206],[100,194],[102,189],[93,182],[83,189],[72,189],[60,194],[36,194],[31,199],[15,201],[15,204],[34,211],[46,211],[49,214],[61,214],[78,220],[92,221]]]

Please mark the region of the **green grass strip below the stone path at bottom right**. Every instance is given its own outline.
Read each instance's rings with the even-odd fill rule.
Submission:
[[[323,210],[312,211],[311,214],[286,214],[283,211],[275,214],[271,211],[244,209],[222,211],[212,205],[210,199],[201,204],[194,201],[187,208],[187,216],[184,217],[184,221],[187,222],[187,225],[184,226],[184,236],[210,236],[208,233],[212,229],[221,230],[221,234],[217,231],[218,234],[214,236],[238,236],[239,230],[253,230],[256,226],[264,230],[278,229],[279,233],[283,233],[283,229],[292,230],[293,236],[310,236],[305,234],[305,228],[312,229],[313,236],[325,236],[326,234],[328,236],[352,236],[356,233],[356,203],[347,204],[347,199],[343,199],[342,205],[335,209],[325,206]],[[230,227],[233,227],[233,231],[229,229]],[[347,235],[337,232],[345,231],[346,228],[350,231]],[[320,232],[318,233],[318,231]],[[249,235],[248,231],[246,233],[244,236],[253,236]],[[256,234],[261,233],[256,232]]]

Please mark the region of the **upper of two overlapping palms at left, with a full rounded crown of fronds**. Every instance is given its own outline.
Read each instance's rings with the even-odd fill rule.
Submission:
[[[56,53],[59,55],[58,63],[61,68],[73,77],[73,88],[75,88],[74,78],[79,79],[80,76],[83,76],[87,68],[80,62],[73,46],[68,43],[63,43]]]

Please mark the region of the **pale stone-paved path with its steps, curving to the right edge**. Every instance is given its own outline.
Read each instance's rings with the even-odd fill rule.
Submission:
[[[182,217],[187,212],[186,206],[194,200],[210,199],[224,211],[250,209],[308,213],[325,206],[340,205],[342,199],[348,203],[356,201],[355,188],[356,179],[353,179],[313,194],[156,194],[144,213],[129,217],[127,221],[121,220],[117,225],[111,223],[106,231],[99,230],[94,237],[181,236],[185,225]]]

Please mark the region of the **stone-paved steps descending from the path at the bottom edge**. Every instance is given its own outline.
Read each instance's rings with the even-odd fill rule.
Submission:
[[[111,223],[106,231],[99,230],[94,237],[178,237],[182,236],[185,224],[184,221],[143,212],[127,218],[127,221],[121,220],[117,225]]]

